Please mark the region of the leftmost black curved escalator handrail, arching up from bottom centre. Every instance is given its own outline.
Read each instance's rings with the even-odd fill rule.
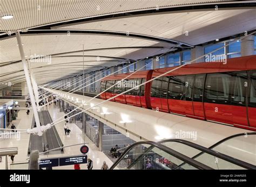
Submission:
[[[133,143],[132,145],[130,145],[129,147],[127,147],[127,149],[123,152],[122,155],[119,156],[119,158],[117,159],[117,161],[112,164],[112,166],[110,167],[110,169],[113,169],[114,167],[116,167],[117,164],[123,159],[123,157],[124,157],[127,153],[130,152],[130,150],[131,150],[133,147],[135,147],[135,146],[137,146],[137,145],[141,145],[141,144],[148,144],[148,145],[150,145],[150,146],[154,146],[154,147],[156,147],[156,148],[158,148],[158,149],[160,149],[160,150],[163,150],[164,152],[166,152],[166,153],[168,153],[168,154],[170,154],[170,155],[176,157],[177,159],[179,159],[179,160],[181,160],[181,161],[183,161],[183,162],[186,162],[186,163],[190,164],[191,166],[193,166],[193,167],[195,167],[195,168],[197,168],[197,169],[213,169],[213,168],[211,168],[211,167],[206,166],[206,165],[203,164],[203,163],[200,163],[200,162],[198,162],[198,161],[196,161],[196,160],[191,159],[190,157],[188,157],[188,156],[186,156],[186,155],[183,155],[183,154],[177,152],[176,150],[173,150],[173,149],[171,149],[171,148],[169,148],[169,147],[166,147],[166,146],[164,146],[164,145],[162,145],[162,144],[160,144],[160,143],[158,143],[158,142],[153,142],[153,141],[139,141],[139,142]]]

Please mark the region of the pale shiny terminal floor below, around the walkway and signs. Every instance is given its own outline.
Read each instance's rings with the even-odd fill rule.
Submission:
[[[64,119],[64,112],[59,112],[59,109],[56,105],[46,106],[43,110],[49,110],[51,118],[55,121],[58,118]],[[26,115],[26,111],[20,111],[18,113],[18,119],[21,119],[16,128],[27,129],[31,126],[32,114]],[[83,133],[80,128],[76,124],[68,124],[69,129],[71,130],[70,136],[66,136],[64,132],[64,121],[56,125],[56,129],[59,133],[60,139],[62,140],[64,146],[74,145],[77,143],[83,143],[85,138],[85,143],[89,147],[89,153],[87,156],[93,161],[93,169],[100,169],[102,167],[103,161],[109,165],[109,167],[113,164],[113,162],[103,153],[100,152],[98,147],[94,145],[94,143],[87,138],[85,135],[83,138]],[[25,162],[27,158],[28,145],[29,145],[29,134],[21,134],[21,139],[2,139],[0,140],[0,147],[18,147],[18,155],[15,156],[14,163]],[[64,153],[55,152],[49,155],[41,155],[40,158],[44,159],[47,157],[62,157],[62,156],[72,156],[72,155],[81,155],[80,146],[73,146],[64,148]],[[0,162],[0,169],[5,169],[5,158],[2,157],[2,162]],[[8,157],[8,163],[10,168],[10,157]],[[81,169],[87,169],[86,164],[80,165]],[[62,166],[62,167],[53,167],[53,169],[73,169],[73,166]]]

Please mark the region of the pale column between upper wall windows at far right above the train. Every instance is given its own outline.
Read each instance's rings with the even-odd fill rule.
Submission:
[[[254,35],[248,35],[241,39],[241,56],[249,56],[254,54]]]

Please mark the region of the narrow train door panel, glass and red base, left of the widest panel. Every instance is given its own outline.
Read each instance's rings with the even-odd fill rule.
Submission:
[[[205,74],[195,75],[193,84],[193,110],[194,117],[199,119],[205,119],[203,104],[204,83]]]

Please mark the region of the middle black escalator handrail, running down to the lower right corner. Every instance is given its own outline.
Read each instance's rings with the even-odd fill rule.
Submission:
[[[246,169],[256,169],[256,166],[254,166],[253,164],[250,164],[250,163],[247,163],[247,162],[244,162],[244,161],[241,161],[239,159],[235,159],[234,157],[231,157],[231,156],[228,156],[228,155],[225,155],[223,153],[219,153],[217,152],[216,150],[212,150],[210,148],[206,148],[206,147],[203,147],[203,146],[200,146],[196,143],[193,143],[193,142],[190,142],[190,141],[187,141],[187,140],[181,140],[181,139],[168,139],[168,140],[161,140],[159,141],[159,143],[165,143],[165,142],[178,142],[178,143],[183,143],[184,145],[186,146],[189,146],[189,147],[193,147],[195,149],[198,149],[198,150],[201,150],[201,154],[203,153],[207,153],[207,154],[210,154],[210,155],[213,155],[213,156],[216,156],[218,157],[219,159],[223,159],[227,162],[231,162],[237,166],[240,166],[242,168],[246,168]],[[199,153],[200,154],[200,153]],[[195,157],[193,156],[192,159],[195,159]]]

